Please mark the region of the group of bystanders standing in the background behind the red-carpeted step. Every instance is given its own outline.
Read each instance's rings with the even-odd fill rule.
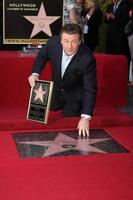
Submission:
[[[64,23],[79,24],[83,30],[83,42],[93,52],[101,39],[100,25],[102,22],[106,24],[105,53],[127,57],[129,85],[133,86],[133,33],[125,33],[125,26],[133,18],[133,0],[111,0],[104,12],[97,0],[65,0],[64,6],[67,16]]]

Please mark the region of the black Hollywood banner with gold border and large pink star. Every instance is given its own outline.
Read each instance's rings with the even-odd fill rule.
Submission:
[[[3,43],[44,44],[62,26],[63,0],[3,0]]]

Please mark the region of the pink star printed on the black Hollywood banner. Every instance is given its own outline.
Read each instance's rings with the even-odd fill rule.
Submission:
[[[32,24],[34,24],[34,27],[30,36],[30,38],[32,38],[41,31],[46,33],[48,36],[52,36],[50,24],[55,22],[61,16],[47,16],[44,5],[42,3],[37,16],[23,16],[23,17],[27,19],[28,21],[30,21]]]

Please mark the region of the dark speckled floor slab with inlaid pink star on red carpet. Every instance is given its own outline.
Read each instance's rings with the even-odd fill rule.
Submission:
[[[16,134],[17,148],[22,157],[88,155],[128,152],[104,131],[91,131],[90,138],[80,138],[77,132]]]

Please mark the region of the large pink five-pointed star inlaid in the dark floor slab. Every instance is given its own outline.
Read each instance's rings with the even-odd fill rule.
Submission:
[[[69,136],[63,135],[60,133],[57,135],[54,141],[28,141],[28,142],[20,142],[21,144],[29,144],[29,145],[37,145],[37,146],[44,146],[48,147],[42,157],[44,156],[50,156],[54,155],[58,152],[65,152],[68,149],[69,150],[79,150],[82,152],[96,152],[96,153],[106,153],[105,151],[102,151],[98,148],[95,148],[91,146],[91,144],[102,142],[108,140],[108,138],[105,139],[73,139]]]

